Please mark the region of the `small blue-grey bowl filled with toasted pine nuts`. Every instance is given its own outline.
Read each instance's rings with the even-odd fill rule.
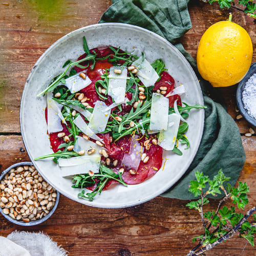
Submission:
[[[44,181],[31,162],[14,164],[0,176],[0,211],[9,221],[33,226],[57,208],[59,193]]]

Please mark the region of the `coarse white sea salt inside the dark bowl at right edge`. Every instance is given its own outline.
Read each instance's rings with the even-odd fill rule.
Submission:
[[[245,83],[242,95],[244,108],[251,117],[256,119],[256,73]]]

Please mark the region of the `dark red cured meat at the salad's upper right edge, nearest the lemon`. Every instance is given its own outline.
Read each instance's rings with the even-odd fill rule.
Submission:
[[[155,83],[155,86],[153,88],[154,91],[159,90],[160,87],[164,86],[167,87],[166,94],[167,95],[169,92],[174,90],[174,78],[170,76],[167,72],[163,71],[161,73],[161,78],[158,82]],[[179,95],[173,95],[169,96],[169,106],[174,107],[174,102],[177,99],[177,104],[181,106],[181,99]]]

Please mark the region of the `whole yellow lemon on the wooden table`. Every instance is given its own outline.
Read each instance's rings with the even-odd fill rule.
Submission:
[[[245,29],[230,20],[217,22],[199,42],[198,71],[214,87],[232,86],[249,70],[252,51],[251,38]]]

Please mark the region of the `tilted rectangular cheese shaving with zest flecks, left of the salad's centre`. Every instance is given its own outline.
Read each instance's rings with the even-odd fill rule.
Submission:
[[[106,123],[110,117],[110,110],[106,111],[107,105],[103,101],[96,101],[93,109],[93,114],[90,119],[89,127],[97,133],[104,132]]]

